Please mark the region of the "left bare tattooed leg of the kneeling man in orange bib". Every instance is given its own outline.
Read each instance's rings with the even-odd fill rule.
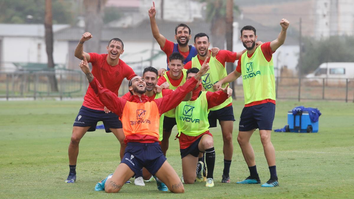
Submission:
[[[107,179],[104,184],[104,191],[107,193],[117,193],[120,191],[126,181],[128,181],[134,172],[128,165],[120,163],[114,171],[112,178]]]

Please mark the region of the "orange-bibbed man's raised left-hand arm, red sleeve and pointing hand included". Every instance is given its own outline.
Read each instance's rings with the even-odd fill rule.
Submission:
[[[79,66],[82,72],[86,74],[91,88],[96,93],[97,97],[102,102],[102,104],[116,115],[121,116],[123,108],[127,102],[126,99],[118,97],[112,91],[101,86],[98,80],[92,75],[86,57],[84,57],[84,60],[81,61]]]

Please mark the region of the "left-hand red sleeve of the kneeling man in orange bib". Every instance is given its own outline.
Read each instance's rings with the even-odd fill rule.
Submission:
[[[105,107],[107,107],[116,115],[120,117],[122,116],[124,106],[127,103],[126,99],[118,97],[112,91],[102,87],[96,78],[93,78],[90,86]]]

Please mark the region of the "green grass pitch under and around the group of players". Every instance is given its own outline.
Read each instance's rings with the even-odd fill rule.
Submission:
[[[119,142],[104,130],[88,132],[80,143],[77,180],[68,175],[68,145],[79,101],[0,102],[0,198],[352,198],[354,195],[354,104],[326,101],[277,101],[273,128],[287,122],[295,106],[317,107],[322,116],[319,133],[272,133],[279,187],[242,185],[249,175],[237,143],[238,118],[243,101],[234,102],[234,155],[230,184],[221,183],[223,169],[221,130],[212,128],[216,148],[215,187],[184,185],[184,194],[162,193],[156,183],[125,185],[118,194],[95,192],[96,183],[119,164]],[[175,127],[176,128],[176,127]],[[173,135],[176,129],[173,130]],[[258,130],[251,143],[262,183],[269,178]],[[167,160],[182,174],[178,141],[170,138]]]

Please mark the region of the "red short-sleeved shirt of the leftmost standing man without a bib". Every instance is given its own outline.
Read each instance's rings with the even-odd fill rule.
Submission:
[[[108,54],[99,55],[97,53],[90,52],[89,55],[90,62],[92,63],[91,73],[103,87],[112,91],[116,96],[118,96],[118,90],[123,79],[127,78],[130,80],[136,76],[133,69],[121,59],[119,59],[116,66],[110,66],[107,63]],[[82,105],[95,110],[104,110],[104,105],[101,101],[99,101],[95,92],[93,92],[91,85],[87,88]]]

